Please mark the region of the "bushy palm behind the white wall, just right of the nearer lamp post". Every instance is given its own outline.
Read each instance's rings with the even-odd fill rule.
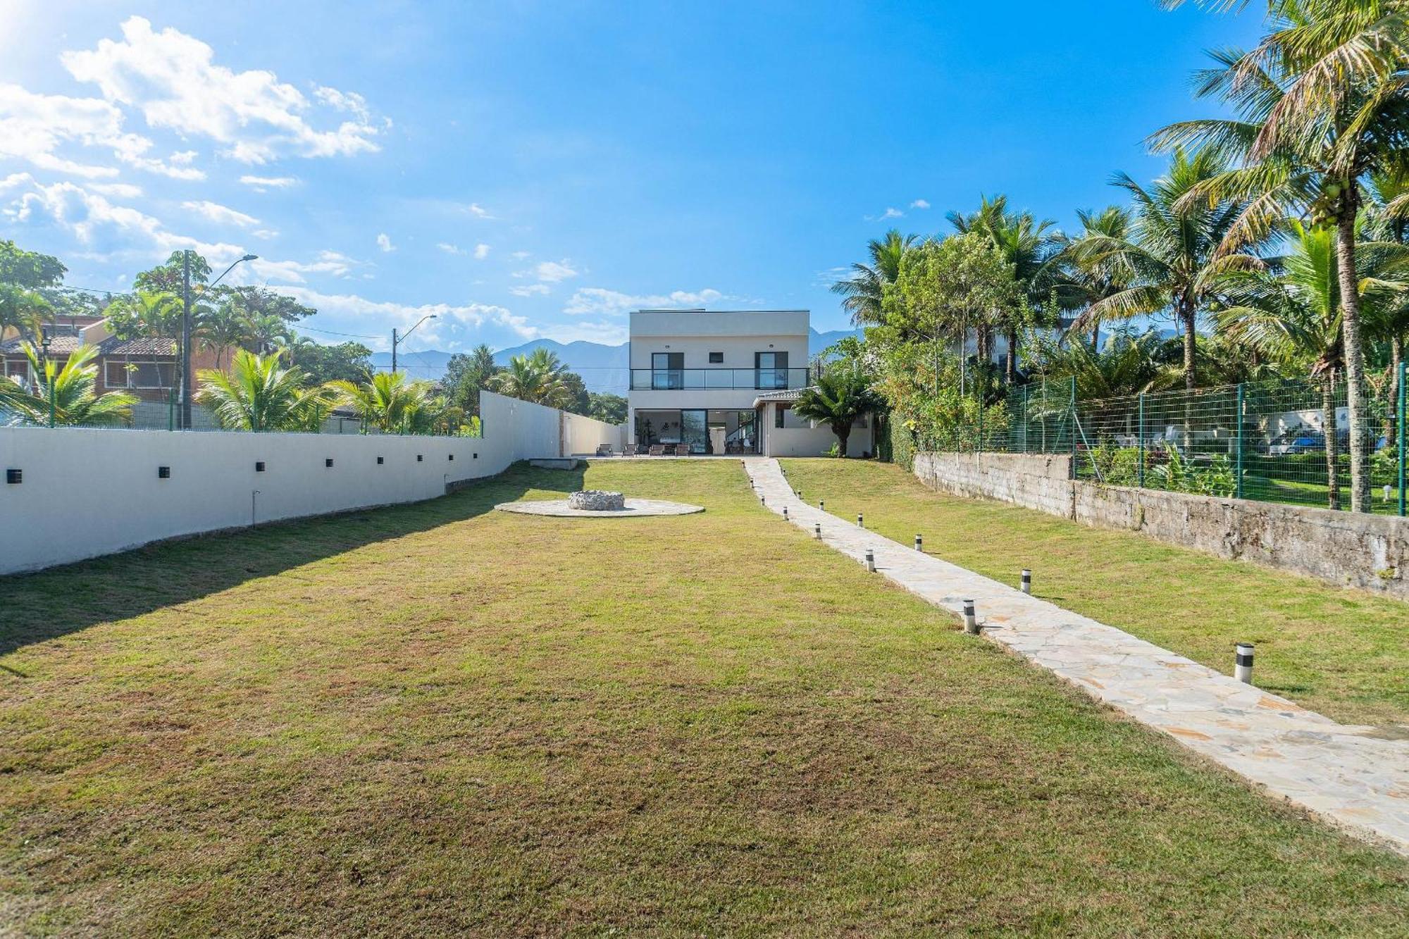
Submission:
[[[230,372],[203,369],[196,400],[210,407],[224,430],[317,430],[333,400],[325,388],[307,388],[307,375],[280,368],[282,355],[237,350]]]

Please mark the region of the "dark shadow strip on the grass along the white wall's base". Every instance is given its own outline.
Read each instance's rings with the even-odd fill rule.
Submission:
[[[572,492],[583,468],[514,464],[435,499],[266,522],[106,554],[31,574],[0,577],[0,656],[87,629],[196,601],[344,551],[464,522],[526,492]],[[14,668],[0,670],[23,677]]]

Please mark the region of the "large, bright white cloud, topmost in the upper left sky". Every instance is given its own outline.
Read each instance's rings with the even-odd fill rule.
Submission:
[[[175,28],[154,31],[142,17],[123,23],[123,39],[65,52],[63,66],[79,82],[97,85],[107,103],[135,107],[154,128],[224,144],[224,154],[265,164],[286,154],[338,156],[376,151],[379,127],[361,96],[318,87],[323,107],[351,120],[331,130],[313,127],[313,104],[273,72],[232,72],[216,65],[216,51]]]

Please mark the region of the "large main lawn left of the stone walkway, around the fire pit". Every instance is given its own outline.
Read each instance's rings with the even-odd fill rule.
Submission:
[[[490,512],[583,484],[516,468],[0,578],[0,933],[1403,935],[1409,861],[964,636],[737,462],[585,482],[707,510]]]

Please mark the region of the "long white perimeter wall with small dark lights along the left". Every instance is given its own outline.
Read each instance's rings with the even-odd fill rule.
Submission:
[[[271,522],[430,499],[447,482],[562,455],[562,412],[492,392],[480,412],[478,438],[0,427],[0,468],[24,472],[18,485],[0,482],[0,574],[247,526],[251,508]],[[620,438],[612,424],[572,423]]]

